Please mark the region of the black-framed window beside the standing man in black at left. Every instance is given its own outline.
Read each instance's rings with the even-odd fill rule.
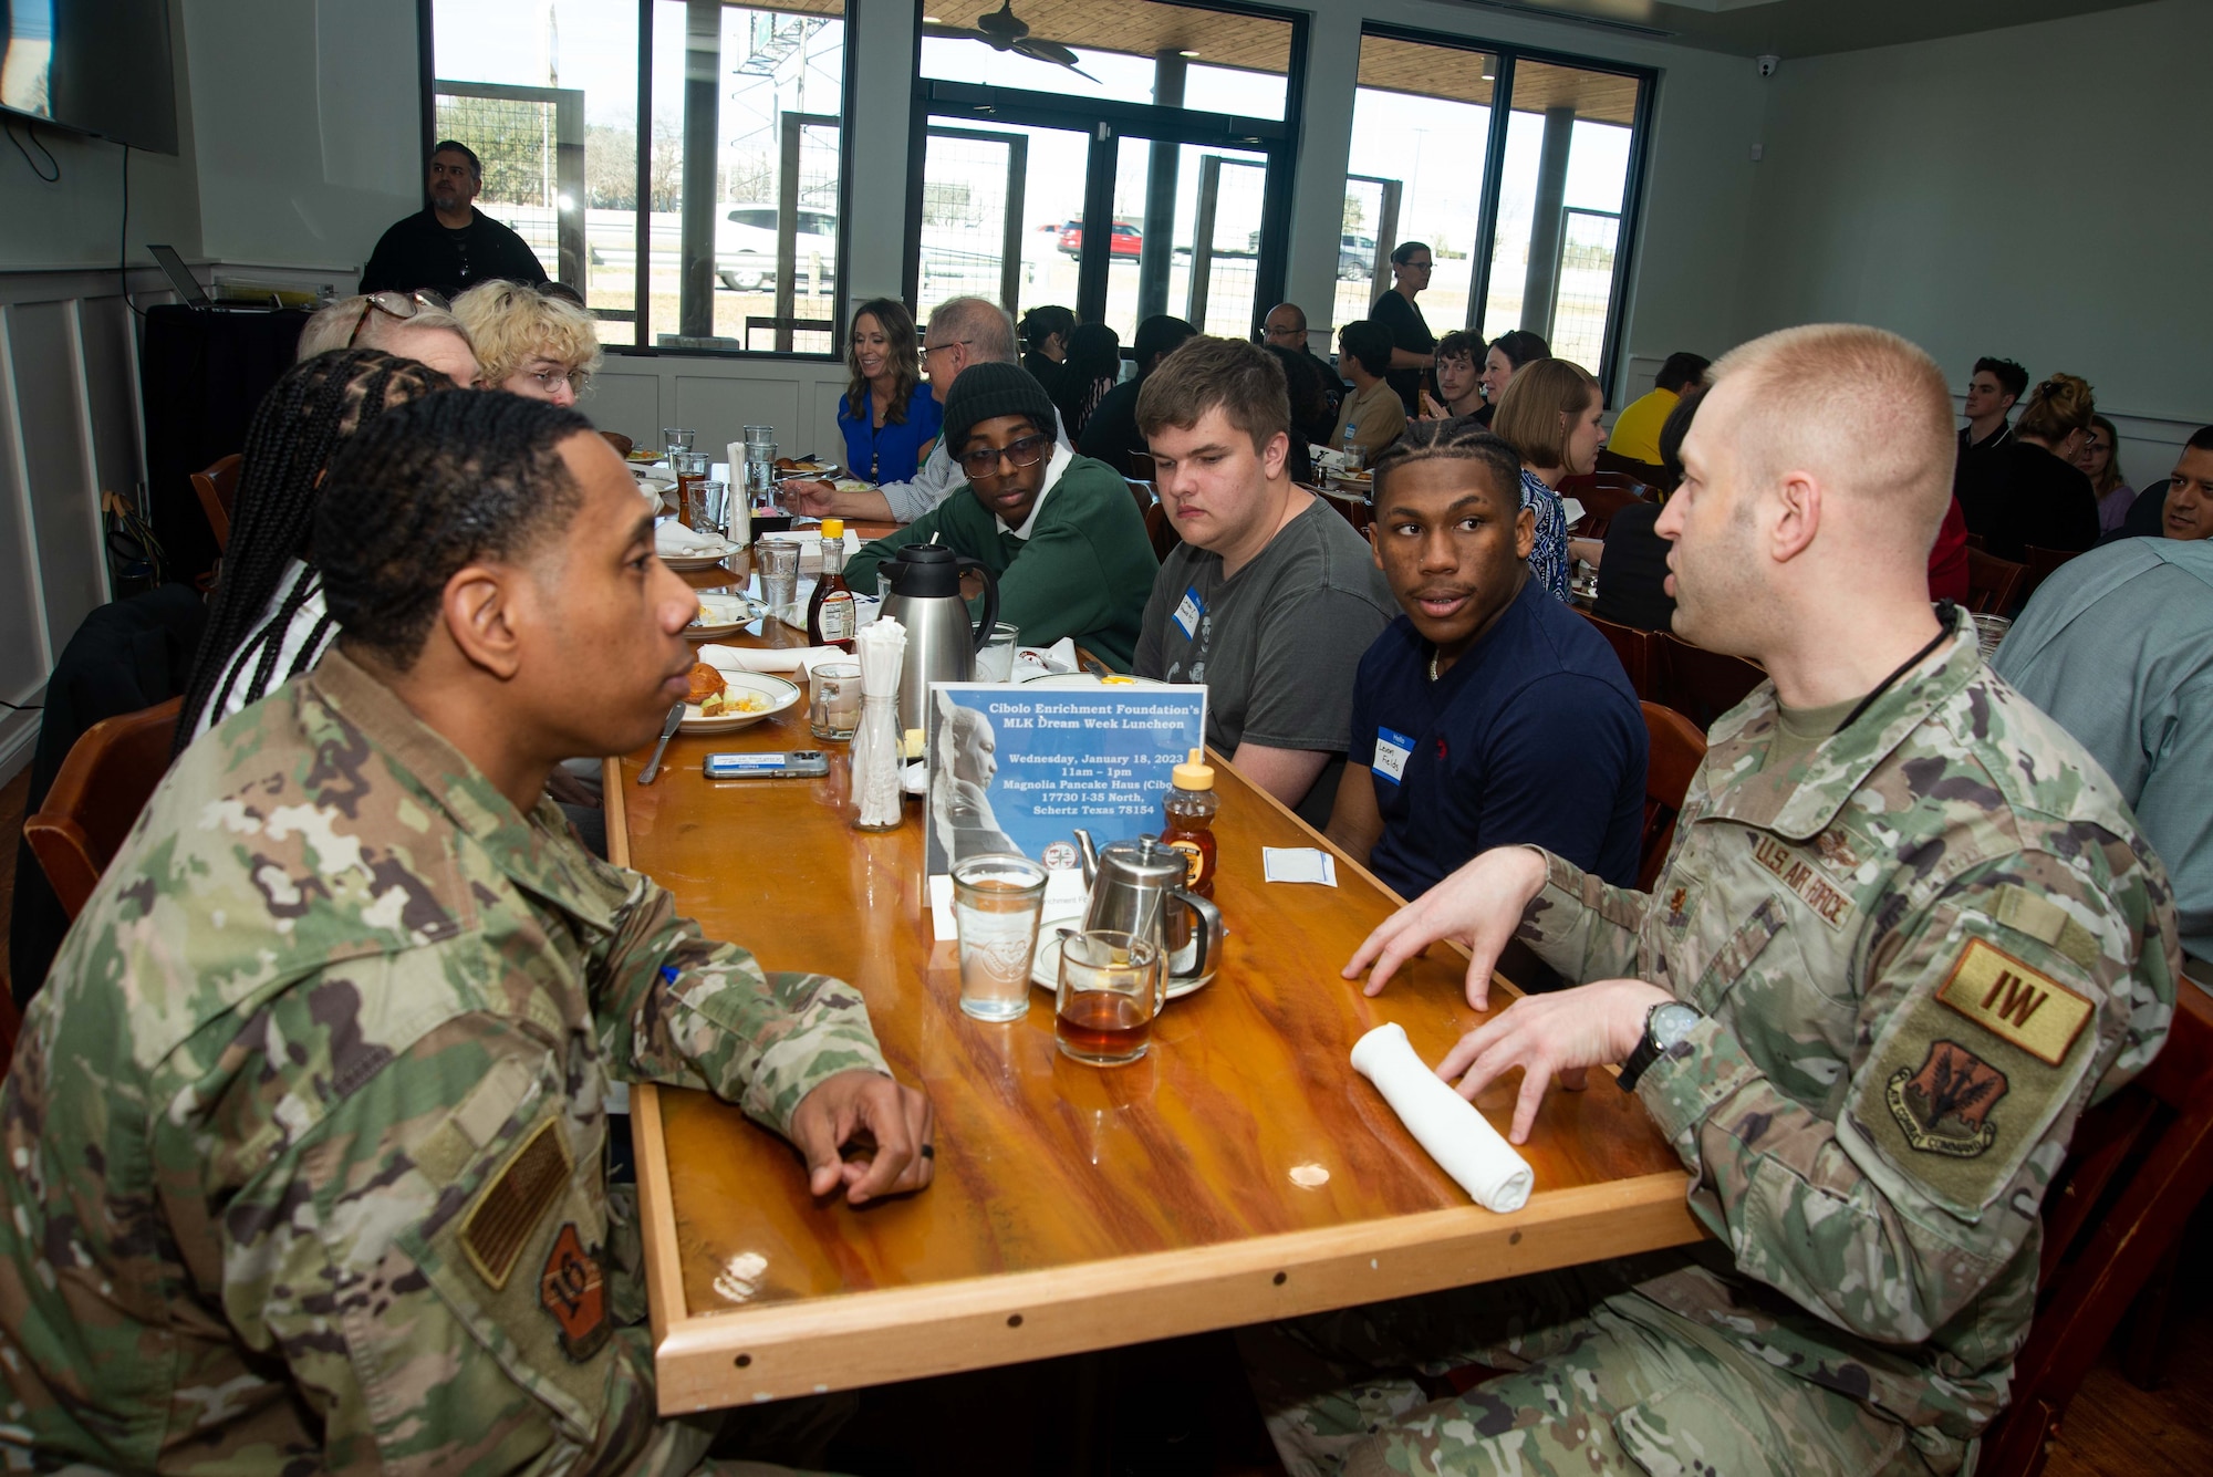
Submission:
[[[436,137],[609,345],[837,354],[845,0],[429,0]]]

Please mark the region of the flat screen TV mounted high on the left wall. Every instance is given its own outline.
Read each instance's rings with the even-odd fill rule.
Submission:
[[[0,111],[177,153],[168,0],[0,0]]]

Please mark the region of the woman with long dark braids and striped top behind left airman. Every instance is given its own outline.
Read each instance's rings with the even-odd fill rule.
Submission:
[[[177,754],[321,659],[336,635],[308,548],[323,473],[363,425],[440,389],[454,380],[429,365],[339,349],[292,365],[261,398],[246,431],[224,575],[177,714]]]

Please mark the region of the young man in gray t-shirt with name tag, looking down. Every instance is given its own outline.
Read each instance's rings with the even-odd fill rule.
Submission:
[[[1206,743],[1317,829],[1352,732],[1361,654],[1399,615],[1365,540],[1297,486],[1284,369],[1193,338],[1146,378],[1137,429],[1184,544],[1160,566],[1140,677],[1206,683]]]

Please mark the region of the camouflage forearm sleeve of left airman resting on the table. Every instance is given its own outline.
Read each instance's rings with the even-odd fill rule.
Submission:
[[[613,869],[609,869],[613,871]],[[593,1015],[615,1077],[704,1088],[779,1134],[825,1077],[890,1068],[861,993],[830,975],[768,975],[737,944],[677,918],[668,889],[628,882],[615,933],[595,949]]]

